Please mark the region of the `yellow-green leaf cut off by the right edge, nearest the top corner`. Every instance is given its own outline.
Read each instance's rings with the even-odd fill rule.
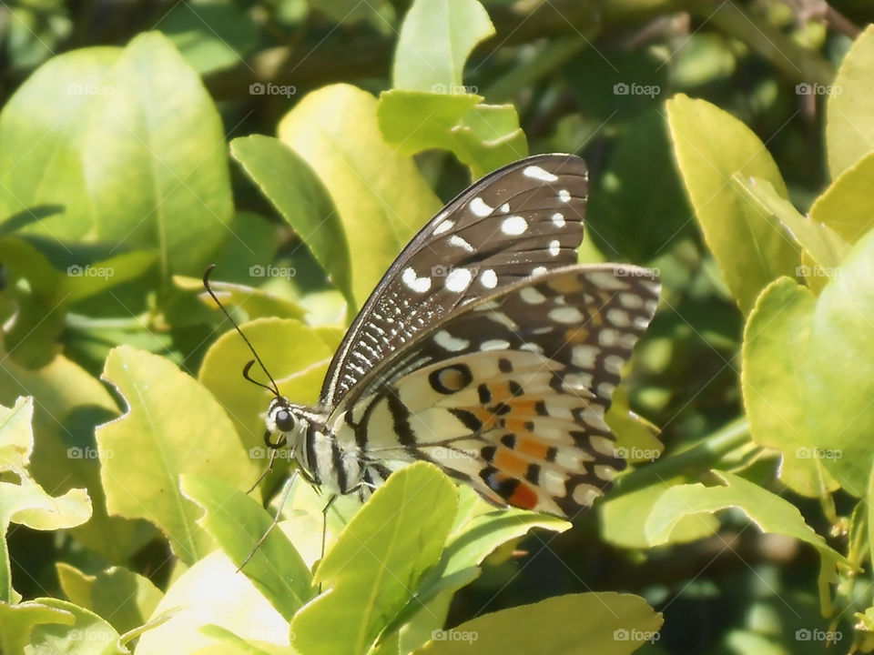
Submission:
[[[874,149],[874,26],[844,55],[826,106],[828,170],[836,179]]]

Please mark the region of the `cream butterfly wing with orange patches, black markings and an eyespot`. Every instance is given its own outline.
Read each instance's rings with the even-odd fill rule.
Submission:
[[[330,422],[367,482],[423,459],[495,503],[573,517],[625,468],[605,411],[658,293],[638,267],[523,280],[396,353]]]

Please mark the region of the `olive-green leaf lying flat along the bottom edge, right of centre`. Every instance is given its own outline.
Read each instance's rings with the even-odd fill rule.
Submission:
[[[569,594],[486,614],[452,630],[435,630],[415,655],[563,653],[624,655],[658,639],[661,614],[639,596]],[[472,648],[473,647],[473,648]]]

